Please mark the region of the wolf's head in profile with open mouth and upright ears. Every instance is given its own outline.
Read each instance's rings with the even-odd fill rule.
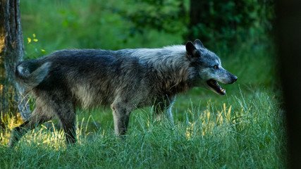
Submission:
[[[221,66],[221,59],[213,52],[204,47],[202,42],[197,39],[195,42],[187,42],[187,57],[191,66],[197,70],[196,85],[210,89],[217,94],[226,94],[218,82],[223,84],[233,84],[238,77],[228,72]]]

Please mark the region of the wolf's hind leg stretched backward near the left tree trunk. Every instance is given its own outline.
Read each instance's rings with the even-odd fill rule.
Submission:
[[[41,108],[36,107],[35,111],[32,112],[29,120],[25,121],[25,123],[23,123],[22,125],[13,128],[13,131],[11,132],[11,138],[8,142],[8,147],[15,146],[15,144],[20,140],[21,137],[23,137],[23,135],[27,131],[34,129],[37,125],[41,125],[42,123],[51,120],[52,117],[41,115],[41,111]]]

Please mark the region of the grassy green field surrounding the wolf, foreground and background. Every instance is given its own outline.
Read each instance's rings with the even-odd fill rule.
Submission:
[[[111,10],[114,2],[102,6],[98,18],[92,15],[96,1],[68,7],[65,1],[54,1],[54,8],[45,0],[22,1],[25,59],[65,48],[150,48],[187,41],[180,32],[151,28],[147,34],[128,35],[131,25]],[[120,6],[128,7],[125,2]],[[209,46],[223,68],[238,76],[235,84],[221,84],[225,96],[202,88],[178,95],[174,125],[154,120],[152,107],[139,109],[130,117],[126,139],[114,136],[109,108],[78,110],[78,143],[68,147],[53,120],[7,149],[10,130],[21,123],[8,115],[6,130],[0,133],[0,168],[286,168],[285,117],[273,42],[251,36],[231,47]],[[35,106],[34,99],[30,106]]]

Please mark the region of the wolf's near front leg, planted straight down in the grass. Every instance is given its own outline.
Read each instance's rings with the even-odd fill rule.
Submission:
[[[113,111],[115,134],[122,136],[128,130],[128,121],[132,110],[128,105],[122,103],[111,104],[111,109]]]

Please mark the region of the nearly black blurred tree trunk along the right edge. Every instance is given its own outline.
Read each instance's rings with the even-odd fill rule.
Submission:
[[[276,1],[278,72],[288,122],[288,168],[301,168],[301,20],[300,0]]]

